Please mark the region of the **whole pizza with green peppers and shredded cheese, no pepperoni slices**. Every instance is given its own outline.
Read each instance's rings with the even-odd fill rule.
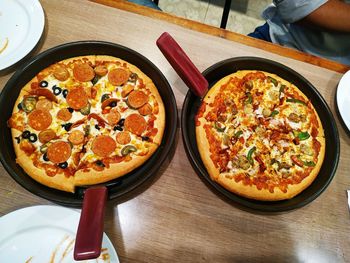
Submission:
[[[294,197],[320,171],[325,138],[311,101],[275,74],[238,71],[217,82],[196,116],[212,180],[256,200]]]

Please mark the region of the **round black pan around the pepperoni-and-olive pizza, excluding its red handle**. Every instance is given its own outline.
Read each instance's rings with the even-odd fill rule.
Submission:
[[[0,95],[0,160],[13,179],[28,191],[50,201],[73,207],[81,206],[84,192],[88,187],[77,187],[76,192],[73,194],[51,189],[31,179],[15,162],[16,157],[12,146],[11,132],[7,128],[7,120],[12,114],[12,108],[20,89],[40,70],[65,58],[83,55],[111,55],[136,65],[153,80],[163,99],[166,110],[166,128],[160,147],[138,169],[119,179],[102,184],[108,189],[109,199],[129,193],[156,174],[175,141],[177,122],[176,101],[166,78],[151,61],[124,46],[101,41],[67,43],[44,51],[19,68],[7,82]]]

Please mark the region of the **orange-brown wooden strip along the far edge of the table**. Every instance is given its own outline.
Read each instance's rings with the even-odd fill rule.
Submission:
[[[168,21],[176,25],[183,26],[192,30],[196,30],[202,33],[210,34],[213,36],[225,38],[231,41],[242,43],[251,47],[256,47],[260,49],[267,50],[272,53],[276,53],[285,57],[297,59],[304,61],[313,65],[317,65],[323,68],[334,70],[340,73],[345,73],[350,69],[349,66],[343,65],[328,59],[320,58],[314,55],[303,53],[291,48],[282,47],[270,42],[266,42],[260,39],[255,39],[249,36],[238,34],[232,31],[221,29],[218,27],[206,25],[194,20],[188,20],[178,16],[171,15],[169,13],[164,13],[158,10],[154,10],[148,7],[140,6],[131,2],[124,0],[90,0],[92,2],[100,3],[103,5],[115,7],[118,9],[126,10],[143,16],[148,16],[152,18],[157,18],[163,21]]]

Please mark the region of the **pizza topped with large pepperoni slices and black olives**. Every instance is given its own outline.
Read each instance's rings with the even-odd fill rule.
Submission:
[[[111,56],[82,56],[40,71],[8,121],[17,163],[36,181],[74,192],[123,176],[159,147],[165,111],[152,80]]]

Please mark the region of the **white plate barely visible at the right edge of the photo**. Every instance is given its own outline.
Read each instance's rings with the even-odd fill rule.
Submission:
[[[346,127],[350,130],[350,71],[346,72],[339,81],[337,106]]]

